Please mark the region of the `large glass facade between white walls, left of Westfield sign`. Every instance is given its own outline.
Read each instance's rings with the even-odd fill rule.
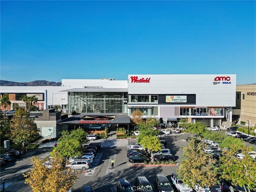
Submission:
[[[127,113],[127,93],[68,92],[67,113]]]

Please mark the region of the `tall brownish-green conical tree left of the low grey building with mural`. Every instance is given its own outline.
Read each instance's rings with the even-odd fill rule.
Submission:
[[[35,124],[29,114],[22,108],[16,110],[12,121],[10,123],[10,138],[17,144],[23,144],[30,142],[36,135]]]

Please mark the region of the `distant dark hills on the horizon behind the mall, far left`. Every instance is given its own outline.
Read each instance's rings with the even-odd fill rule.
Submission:
[[[56,83],[56,82],[38,80],[38,81],[18,83],[18,82],[0,80],[0,86],[61,86],[61,82]]]

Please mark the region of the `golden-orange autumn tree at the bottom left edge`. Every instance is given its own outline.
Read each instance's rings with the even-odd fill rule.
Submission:
[[[33,167],[24,173],[25,183],[29,184],[32,192],[67,192],[76,183],[78,174],[68,168],[64,171],[62,157],[57,153],[52,154],[50,160],[52,166],[47,168],[43,164],[46,160],[40,160],[37,156],[31,158]]]

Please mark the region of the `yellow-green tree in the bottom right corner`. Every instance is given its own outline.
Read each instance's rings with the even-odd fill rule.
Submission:
[[[238,149],[245,154],[243,159],[236,157]],[[251,150],[252,148],[246,146],[244,142],[241,146],[241,143],[236,140],[230,144],[229,150],[223,150],[223,156],[220,158],[221,177],[230,180],[234,185],[244,186],[245,191],[245,186],[249,191],[256,187],[256,163],[252,156],[248,155]]]

